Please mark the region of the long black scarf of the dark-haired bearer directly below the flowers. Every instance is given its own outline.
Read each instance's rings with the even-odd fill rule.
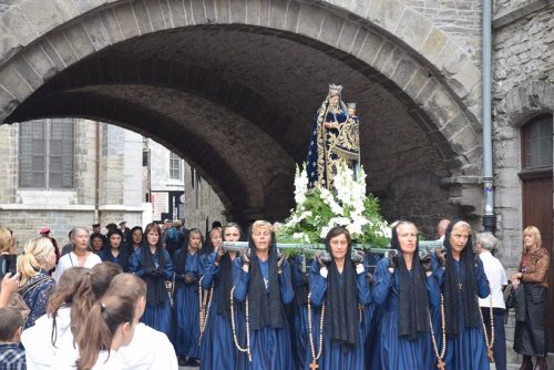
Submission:
[[[352,241],[350,234],[343,227],[331,228],[325,239],[325,247],[331,254],[330,239],[342,234],[348,239],[348,250],[342,269],[342,284],[340,282],[340,273],[335,258],[331,258],[327,277],[327,322],[331,340],[342,345],[356,346],[358,342],[359,312],[356,270],[351,263]]]

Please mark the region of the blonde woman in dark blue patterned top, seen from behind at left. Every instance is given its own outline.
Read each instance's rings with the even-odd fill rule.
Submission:
[[[31,309],[25,329],[47,314],[47,304],[54,290],[54,279],[48,271],[55,266],[55,249],[52,240],[40,237],[27,241],[25,253],[18,258],[18,270],[21,271],[19,294]]]

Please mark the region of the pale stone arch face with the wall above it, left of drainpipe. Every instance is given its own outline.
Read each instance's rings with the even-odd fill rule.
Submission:
[[[55,3],[38,12],[22,2],[8,10],[13,12],[9,19],[21,24],[9,24],[4,41],[11,48],[0,56],[6,61],[0,121],[44,81],[110,45],[168,29],[232,24],[325,49],[346,65],[366,70],[368,78],[411,104],[412,116],[433,136],[451,168],[475,171],[479,70],[442,31],[397,0],[356,0],[349,7],[326,0],[261,1],[259,8],[235,0],[104,3]],[[17,17],[22,13],[40,20],[30,33],[25,18]]]

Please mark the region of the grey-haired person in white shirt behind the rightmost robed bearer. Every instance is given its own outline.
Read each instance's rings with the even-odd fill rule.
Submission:
[[[491,296],[480,298],[479,306],[486,325],[488,338],[491,338],[491,310],[494,322],[494,343],[492,352],[496,370],[506,369],[506,335],[504,331],[504,304],[503,288],[507,285],[506,273],[500,260],[492,255],[499,240],[491,233],[479,233],[475,238],[475,249],[483,263],[483,268],[491,287]]]

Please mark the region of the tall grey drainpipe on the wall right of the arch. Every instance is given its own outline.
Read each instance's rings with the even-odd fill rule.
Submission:
[[[492,0],[483,1],[483,227],[494,233],[494,175],[492,169],[491,127],[491,49],[492,49]]]

